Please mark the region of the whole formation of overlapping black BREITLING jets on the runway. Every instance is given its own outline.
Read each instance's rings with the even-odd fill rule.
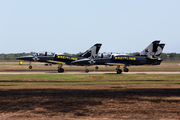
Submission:
[[[124,72],[128,72],[129,69],[127,67],[132,65],[160,65],[160,63],[162,62],[160,55],[165,46],[165,44],[160,44],[160,41],[153,41],[148,47],[146,47],[140,54],[137,55],[111,53],[106,56],[103,54],[101,54],[101,56],[98,56],[101,45],[102,44],[100,43],[95,44],[80,56],[71,56],[60,53],[49,54],[45,52],[36,53],[30,56],[22,56],[16,59],[30,61],[29,69],[32,69],[31,61],[59,64],[59,73],[64,72],[64,69],[62,68],[63,64],[86,66],[86,73],[89,72],[87,66],[96,65],[95,68],[98,69],[97,65],[110,65],[117,66],[117,74],[121,74],[122,70],[120,69],[120,66],[123,66]]]

